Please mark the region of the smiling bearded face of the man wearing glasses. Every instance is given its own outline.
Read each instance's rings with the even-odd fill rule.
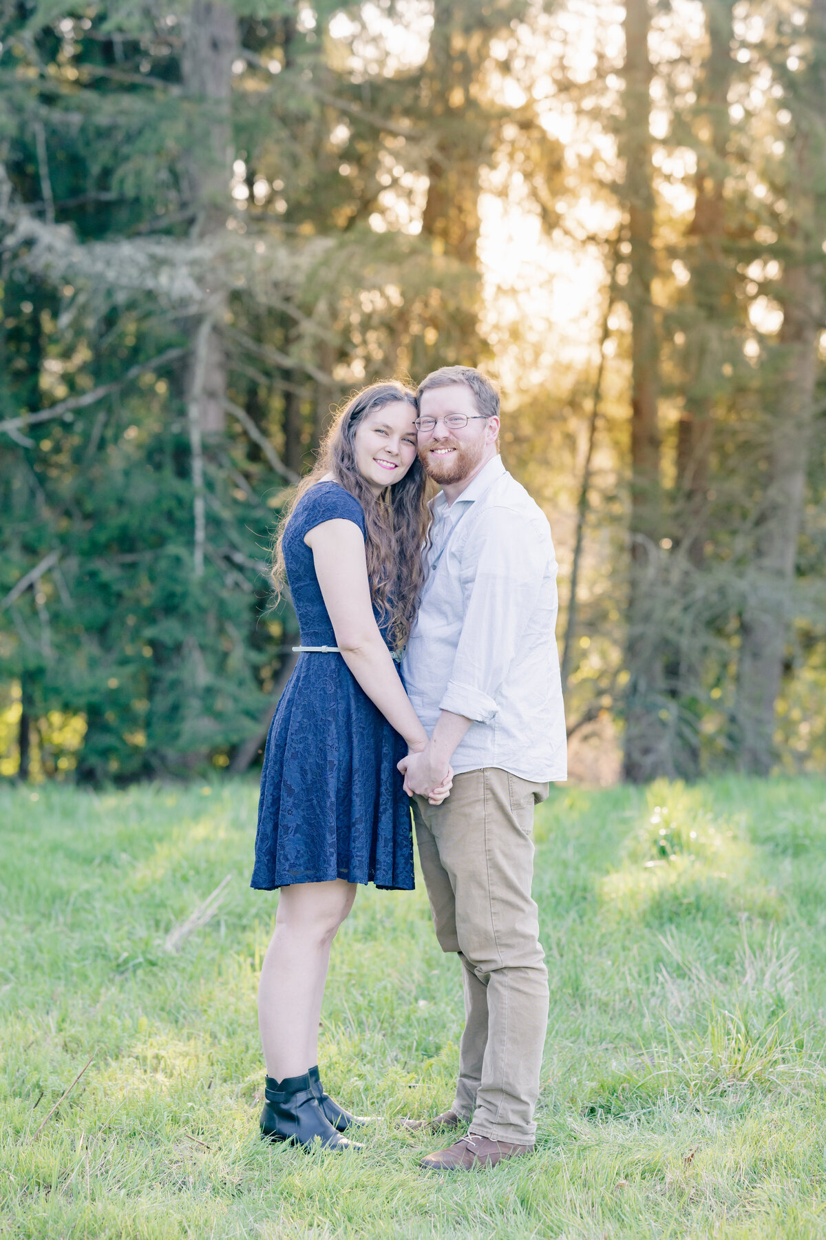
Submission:
[[[443,419],[452,413],[466,414],[467,427],[448,429]],[[441,486],[461,482],[480,463],[493,430],[488,418],[479,418],[473,392],[464,383],[430,388],[422,392],[419,417],[438,419],[432,430],[419,432],[419,456],[428,475]]]

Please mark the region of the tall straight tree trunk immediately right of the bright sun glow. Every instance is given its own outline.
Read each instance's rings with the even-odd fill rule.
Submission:
[[[654,190],[649,133],[650,83],[648,0],[625,5],[624,208],[630,242],[627,301],[632,316],[632,477],[625,777],[639,782],[669,770],[667,720],[663,715],[663,666],[656,616],[660,532],[660,429],[658,335],[651,301]]]

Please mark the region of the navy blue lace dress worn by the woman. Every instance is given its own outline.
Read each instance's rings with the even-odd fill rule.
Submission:
[[[337,482],[317,482],[284,534],[302,646],[336,645],[303,541],[308,529],[334,518],[353,521],[364,533],[358,500]],[[341,655],[298,655],[266,740],[250,885],[271,890],[346,878],[410,890],[410,801],[396,770],[406,751]]]

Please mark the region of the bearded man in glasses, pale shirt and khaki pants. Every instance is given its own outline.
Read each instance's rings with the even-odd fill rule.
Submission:
[[[554,637],[556,558],[545,515],[499,456],[499,397],[446,366],[419,388],[419,454],[441,484],[428,573],[402,677],[431,733],[399,764],[414,796],[436,936],[458,952],[466,1024],[451,1109],[409,1128],[469,1128],[422,1167],[533,1151],[547,970],[531,899],[534,806],[566,777]],[[440,806],[426,792],[456,773]]]

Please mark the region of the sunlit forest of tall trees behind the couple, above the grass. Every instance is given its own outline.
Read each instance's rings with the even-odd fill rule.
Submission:
[[[254,764],[289,489],[454,362],[594,777],[826,769],[826,0],[0,12],[1,775]]]

